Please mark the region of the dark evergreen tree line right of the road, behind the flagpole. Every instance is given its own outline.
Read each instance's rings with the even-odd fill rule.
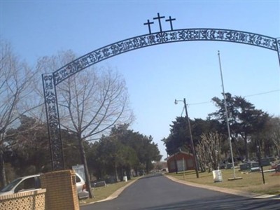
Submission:
[[[228,137],[224,99],[212,99],[217,111],[210,113],[206,120],[195,118],[190,126],[195,144],[195,151],[200,169],[209,172],[218,169],[221,161],[231,162],[230,141],[235,160],[248,161],[256,159],[257,147],[260,146],[262,157],[280,155],[280,118],[268,113],[246,101],[244,97],[225,94],[230,126]],[[192,153],[190,132],[186,117],[177,117],[170,125],[169,137],[162,139],[168,155],[179,151]]]

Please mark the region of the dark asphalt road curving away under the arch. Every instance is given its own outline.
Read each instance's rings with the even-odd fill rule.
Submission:
[[[81,210],[280,209],[280,200],[253,199],[176,183],[160,174],[144,176],[116,199]]]

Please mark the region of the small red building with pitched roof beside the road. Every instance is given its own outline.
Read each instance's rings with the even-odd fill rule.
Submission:
[[[195,158],[189,153],[180,151],[167,158],[167,167],[169,173],[195,170]]]

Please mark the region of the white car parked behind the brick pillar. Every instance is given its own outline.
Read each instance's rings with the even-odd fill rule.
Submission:
[[[0,195],[11,195],[14,193],[28,192],[41,188],[40,174],[31,176],[22,176],[15,179],[3,189],[0,190]],[[85,188],[85,181],[76,173],[76,188],[78,193],[78,199],[87,199],[89,193]]]

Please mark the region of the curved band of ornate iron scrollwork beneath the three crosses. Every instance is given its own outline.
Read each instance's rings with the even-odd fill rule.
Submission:
[[[65,78],[81,71],[88,66],[101,62],[115,55],[136,50],[151,45],[172,43],[179,41],[228,41],[234,43],[244,43],[255,45],[269,50],[278,51],[276,38],[253,34],[245,31],[235,31],[228,29],[179,29],[172,31],[161,31],[153,34],[146,34],[128,38],[107,45],[104,48],[94,50],[78,59],[66,64],[61,69],[54,72],[55,85],[62,82]],[[279,45],[279,43],[278,43]],[[278,52],[279,53],[279,52]]]

